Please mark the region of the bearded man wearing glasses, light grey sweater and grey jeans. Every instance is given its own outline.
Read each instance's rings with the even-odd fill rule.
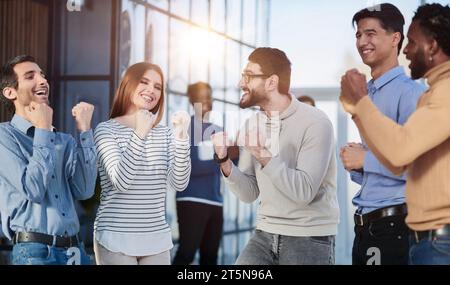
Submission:
[[[253,51],[239,105],[260,107],[265,123],[240,132],[239,168],[228,159],[227,134],[213,136],[215,160],[230,189],[244,202],[260,201],[256,232],[238,265],[334,263],[339,208],[333,126],[322,111],[289,94],[290,76],[283,51]]]

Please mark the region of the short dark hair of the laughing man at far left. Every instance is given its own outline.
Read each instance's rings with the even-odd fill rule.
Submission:
[[[18,55],[6,62],[0,71],[0,101],[6,106],[6,109],[12,113],[15,112],[14,104],[11,100],[3,95],[6,87],[12,87],[17,90],[19,87],[19,78],[14,71],[14,67],[22,62],[34,62],[36,60],[30,55]]]

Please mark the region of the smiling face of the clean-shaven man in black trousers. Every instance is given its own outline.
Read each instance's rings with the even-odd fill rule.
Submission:
[[[356,47],[363,62],[375,68],[391,57],[397,57],[398,41],[392,33],[383,29],[380,21],[375,18],[364,18],[358,21],[356,32]]]

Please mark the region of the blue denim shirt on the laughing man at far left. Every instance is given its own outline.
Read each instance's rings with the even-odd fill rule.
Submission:
[[[77,234],[74,200],[91,197],[96,178],[92,130],[77,145],[72,136],[37,129],[18,115],[0,124],[0,216],[8,238],[16,231]]]

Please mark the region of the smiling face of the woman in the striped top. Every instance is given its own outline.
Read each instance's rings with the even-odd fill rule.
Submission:
[[[147,70],[142,76],[136,90],[131,97],[131,106],[129,112],[137,110],[153,110],[162,95],[162,78],[158,72]]]

